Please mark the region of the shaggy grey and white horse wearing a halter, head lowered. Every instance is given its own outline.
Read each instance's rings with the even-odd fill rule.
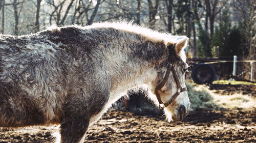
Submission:
[[[188,38],[176,39],[126,22],[0,35],[0,126],[60,124],[61,142],[83,142],[88,127],[139,85],[168,121],[181,121],[190,105]]]

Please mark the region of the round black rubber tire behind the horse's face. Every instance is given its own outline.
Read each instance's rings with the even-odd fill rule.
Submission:
[[[216,78],[216,70],[212,65],[200,63],[193,68],[191,76],[197,84],[211,84]]]

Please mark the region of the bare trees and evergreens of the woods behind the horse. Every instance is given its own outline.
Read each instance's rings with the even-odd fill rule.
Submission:
[[[255,59],[255,9],[255,0],[0,0],[0,32],[24,35],[52,24],[126,19],[186,35],[189,56]]]

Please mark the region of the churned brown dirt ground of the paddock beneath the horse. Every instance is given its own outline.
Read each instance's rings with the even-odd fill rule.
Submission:
[[[229,91],[230,94],[243,93],[255,97],[255,85],[243,85],[242,88],[211,86],[215,93]],[[256,142],[255,109],[195,109],[190,111],[184,122],[173,123],[167,123],[161,115],[146,110],[136,113],[109,111],[89,128],[85,142]],[[0,143],[53,142],[51,133],[57,131],[56,125],[0,128]]]

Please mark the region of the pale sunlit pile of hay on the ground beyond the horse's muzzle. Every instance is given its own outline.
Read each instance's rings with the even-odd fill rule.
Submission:
[[[210,91],[206,85],[193,85],[186,82],[191,109],[236,109],[256,108],[256,99],[252,96],[233,94],[218,95]]]

